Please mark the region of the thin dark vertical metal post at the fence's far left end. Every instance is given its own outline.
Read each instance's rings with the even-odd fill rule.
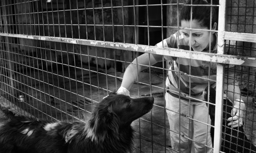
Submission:
[[[8,23],[7,23],[7,14],[6,14],[6,6],[5,0],[2,1],[3,5],[3,20],[4,20],[4,33],[8,33]],[[10,46],[9,46],[9,37],[5,37],[5,45],[7,49],[7,58],[8,58],[8,67],[9,67],[9,77],[10,77],[10,84],[11,84],[11,98],[12,102],[15,102],[14,98],[14,87],[13,87],[13,64],[11,64],[11,55],[10,55]]]

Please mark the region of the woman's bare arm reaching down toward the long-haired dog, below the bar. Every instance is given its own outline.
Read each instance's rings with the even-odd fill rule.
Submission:
[[[137,76],[140,74],[140,71],[148,68],[147,66],[149,66],[149,63],[150,63],[150,66],[152,66],[155,63],[160,61],[162,61],[161,55],[149,54],[149,53],[144,53],[140,55],[139,57],[134,59],[134,61],[126,68],[125,74],[122,79],[121,87],[125,87],[127,90],[130,90],[134,81],[137,80]],[[137,63],[138,63],[138,69],[137,69]],[[147,65],[147,66],[141,66],[139,64]],[[138,72],[138,75],[137,75],[137,72]]]

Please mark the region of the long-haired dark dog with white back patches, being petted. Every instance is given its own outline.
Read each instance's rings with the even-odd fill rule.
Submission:
[[[131,122],[147,114],[153,97],[111,93],[87,123],[17,116],[0,127],[0,153],[132,153]]]

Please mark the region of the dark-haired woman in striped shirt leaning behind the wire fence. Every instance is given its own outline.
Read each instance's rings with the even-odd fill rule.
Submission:
[[[191,1],[189,0],[187,4],[191,4]],[[195,0],[193,1],[193,4],[209,5],[206,0]],[[163,42],[156,44],[156,46],[179,48],[184,50],[189,50],[191,46],[191,50],[194,51],[217,53],[217,33],[200,30],[209,30],[210,27],[211,30],[216,30],[218,22],[218,13],[216,8],[212,7],[211,26],[209,24],[211,7],[193,6],[192,20],[190,11],[191,6],[183,6],[183,9],[180,12],[180,26],[183,28],[171,35],[169,38],[164,39]],[[192,28],[195,30],[187,30],[184,28]],[[211,42],[211,44],[209,42]],[[164,59],[173,61],[166,79],[167,93],[165,94],[167,116],[171,129],[172,149],[180,151],[181,153],[212,152],[212,149],[202,145],[205,144],[210,147],[212,146],[209,135],[210,127],[207,128],[207,125],[200,123],[207,123],[207,121],[208,123],[210,122],[208,109],[205,103],[195,101],[194,99],[189,101],[187,96],[184,95],[190,95],[193,98],[203,100],[202,92],[205,87],[207,87],[208,80],[202,78],[208,78],[210,76],[209,79],[216,80],[216,63],[211,63],[209,65],[209,62],[205,61],[169,56],[164,56]],[[136,65],[136,63],[142,65],[149,65],[150,63],[151,65],[154,65],[160,61],[162,61],[162,55],[151,54],[149,56],[148,53],[140,55],[137,59],[134,59],[132,63],[135,64],[130,64],[125,70],[121,87],[118,89],[117,93],[129,95],[129,89],[137,79],[137,67],[138,72],[147,68],[146,66]],[[208,69],[209,66],[210,72]],[[180,75],[179,71],[197,77],[189,78],[186,74]],[[227,80],[225,80],[225,82],[227,82]],[[229,83],[230,82],[231,81],[229,81]],[[209,81],[209,83],[212,87],[216,86],[215,81]],[[236,85],[225,85],[224,87],[225,91],[227,89],[230,91],[227,92],[227,97],[234,101],[234,109],[232,110],[232,113],[234,115],[236,114],[235,117],[229,118],[229,120],[232,121],[229,125],[232,127],[240,126],[243,123],[241,118],[243,112],[240,109],[244,109],[245,106],[243,101],[240,100],[240,89]],[[179,94],[179,91],[181,94]],[[180,116],[180,114],[185,114],[194,120],[189,120],[189,118]],[[239,119],[238,116],[240,116]],[[188,138],[193,139],[195,142]]]

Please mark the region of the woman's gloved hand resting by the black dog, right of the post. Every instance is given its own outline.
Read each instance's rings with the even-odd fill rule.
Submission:
[[[233,109],[231,111],[232,117],[228,118],[230,122],[227,124],[231,127],[240,127],[243,125],[243,110],[245,109],[245,103],[243,100],[236,99],[233,103]]]

